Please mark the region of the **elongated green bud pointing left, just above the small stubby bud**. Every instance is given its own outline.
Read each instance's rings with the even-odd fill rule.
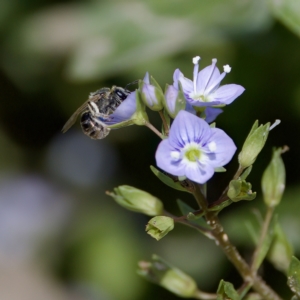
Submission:
[[[143,213],[147,216],[157,216],[163,212],[162,202],[151,194],[129,185],[121,185],[114,189],[115,193],[107,195],[128,210]]]

